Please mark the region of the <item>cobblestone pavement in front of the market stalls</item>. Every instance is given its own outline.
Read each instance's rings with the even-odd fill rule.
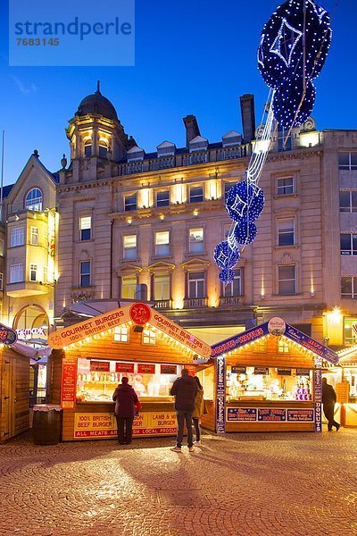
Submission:
[[[357,430],[0,446],[0,535],[357,534]]]

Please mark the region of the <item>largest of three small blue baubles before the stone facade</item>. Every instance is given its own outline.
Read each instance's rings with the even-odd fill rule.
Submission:
[[[264,208],[264,194],[262,188],[250,184],[247,181],[238,182],[228,191],[226,208],[229,217],[234,222],[239,222],[249,214],[249,219],[254,222],[262,214]]]

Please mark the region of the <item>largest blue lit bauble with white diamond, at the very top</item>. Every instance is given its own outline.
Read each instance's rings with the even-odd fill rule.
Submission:
[[[270,88],[277,89],[295,76],[303,77],[304,68],[306,79],[313,80],[325,63],[331,36],[328,12],[313,0],[288,0],[281,4],[262,29],[258,48],[262,78]]]

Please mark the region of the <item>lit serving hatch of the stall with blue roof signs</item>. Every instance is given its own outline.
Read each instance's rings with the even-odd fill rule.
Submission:
[[[228,365],[226,399],[312,400],[312,370]]]

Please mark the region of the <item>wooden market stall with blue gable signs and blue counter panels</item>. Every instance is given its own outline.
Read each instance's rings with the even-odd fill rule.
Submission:
[[[213,345],[212,430],[321,431],[322,359],[338,356],[280,318]]]

